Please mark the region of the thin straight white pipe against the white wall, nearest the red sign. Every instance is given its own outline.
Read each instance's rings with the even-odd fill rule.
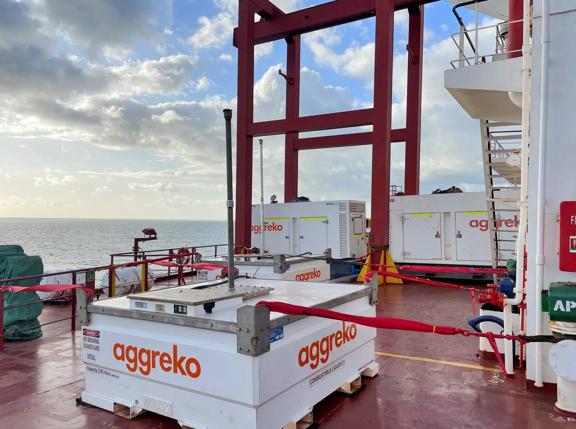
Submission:
[[[542,64],[540,76],[540,134],[538,136],[538,199],[536,217],[536,287],[534,290],[535,302],[540,301],[544,288],[544,223],[546,205],[546,145],[548,137],[548,61],[550,45],[550,5],[548,0],[542,0]],[[542,309],[534,306],[536,320],[535,335],[542,335]],[[542,343],[536,343],[536,358],[534,385],[542,387]]]

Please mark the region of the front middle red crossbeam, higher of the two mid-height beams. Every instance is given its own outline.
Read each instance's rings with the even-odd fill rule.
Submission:
[[[350,110],[348,112],[302,116],[295,119],[277,119],[274,121],[256,122],[248,127],[248,132],[252,137],[258,137],[296,132],[332,130],[336,128],[372,125],[373,119],[373,109],[359,109]]]

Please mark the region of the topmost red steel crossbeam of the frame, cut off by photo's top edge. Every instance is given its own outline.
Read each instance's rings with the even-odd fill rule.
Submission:
[[[245,1],[245,0],[241,0]],[[390,2],[392,0],[378,0]],[[396,10],[419,6],[438,0],[395,0]],[[254,43],[272,42],[297,34],[309,33],[323,28],[334,27],[374,16],[376,0],[334,0],[284,14],[255,25]],[[234,29],[234,46],[237,46],[238,28]]]

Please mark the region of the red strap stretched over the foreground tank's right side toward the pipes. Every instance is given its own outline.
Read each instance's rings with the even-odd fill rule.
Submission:
[[[262,305],[267,307],[270,311],[288,314],[291,316],[323,317],[325,319],[341,320],[343,322],[356,323],[358,325],[369,326],[378,329],[395,329],[410,332],[427,332],[438,335],[463,335],[465,337],[486,338],[490,343],[492,350],[496,354],[498,365],[500,366],[503,374],[507,374],[506,367],[504,365],[504,361],[502,360],[502,356],[500,356],[500,352],[498,351],[496,340],[515,340],[519,341],[521,344],[526,344],[526,340],[524,338],[514,335],[495,334],[493,332],[475,332],[462,328],[455,328],[452,326],[429,325],[428,323],[416,322],[415,320],[396,319],[390,317],[355,316],[353,314],[340,313],[333,310],[326,310],[324,308],[302,307],[300,305],[275,301],[260,301],[256,305]]]

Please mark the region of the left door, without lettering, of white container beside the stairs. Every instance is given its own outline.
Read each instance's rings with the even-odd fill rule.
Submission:
[[[442,259],[440,213],[405,213],[402,226],[406,260]]]

